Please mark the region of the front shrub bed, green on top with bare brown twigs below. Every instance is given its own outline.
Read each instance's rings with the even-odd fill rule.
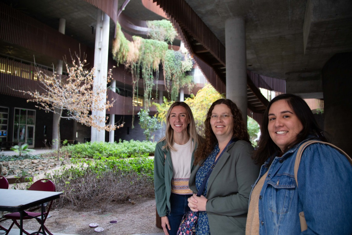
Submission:
[[[72,166],[46,175],[57,191],[63,191],[59,206],[76,209],[100,207],[105,210],[112,202],[126,202],[154,194],[153,159],[147,154],[128,159],[94,157],[71,159]]]

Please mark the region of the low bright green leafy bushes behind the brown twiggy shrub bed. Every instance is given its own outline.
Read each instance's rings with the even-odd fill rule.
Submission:
[[[117,157],[126,158],[132,155],[153,155],[156,143],[150,141],[120,141],[119,143],[88,142],[62,147],[61,151],[77,158]]]

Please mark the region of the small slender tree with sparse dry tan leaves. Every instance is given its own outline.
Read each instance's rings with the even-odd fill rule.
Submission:
[[[68,78],[56,74],[54,68],[54,72],[51,74],[46,74],[42,70],[37,69],[37,80],[42,91],[20,91],[32,97],[27,102],[36,102],[39,104],[39,106],[36,106],[39,109],[59,115],[57,160],[59,160],[61,118],[69,118],[98,130],[111,131],[118,127],[114,124],[99,125],[99,123],[106,123],[107,117],[92,115],[92,111],[109,109],[114,103],[114,100],[111,100],[111,102],[107,100],[106,103],[101,102],[106,96],[106,84],[98,84],[97,87],[99,88],[93,93],[95,68],[85,69],[87,61],[85,59],[81,61],[80,56],[77,54],[75,54],[75,57],[71,56],[71,59],[73,66],[69,66],[65,61],[67,73],[69,74]],[[110,69],[107,75],[108,82],[111,78]],[[123,124],[121,125],[123,126]]]

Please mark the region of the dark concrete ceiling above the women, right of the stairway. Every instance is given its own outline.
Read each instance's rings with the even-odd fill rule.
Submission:
[[[352,51],[350,0],[185,1],[225,47],[226,19],[243,17],[247,69],[259,74],[320,71],[334,54]]]

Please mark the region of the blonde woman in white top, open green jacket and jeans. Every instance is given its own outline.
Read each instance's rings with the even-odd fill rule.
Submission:
[[[183,215],[190,210],[188,180],[200,140],[189,106],[173,103],[166,113],[165,136],[157,143],[154,158],[156,208],[165,235],[176,235]]]

